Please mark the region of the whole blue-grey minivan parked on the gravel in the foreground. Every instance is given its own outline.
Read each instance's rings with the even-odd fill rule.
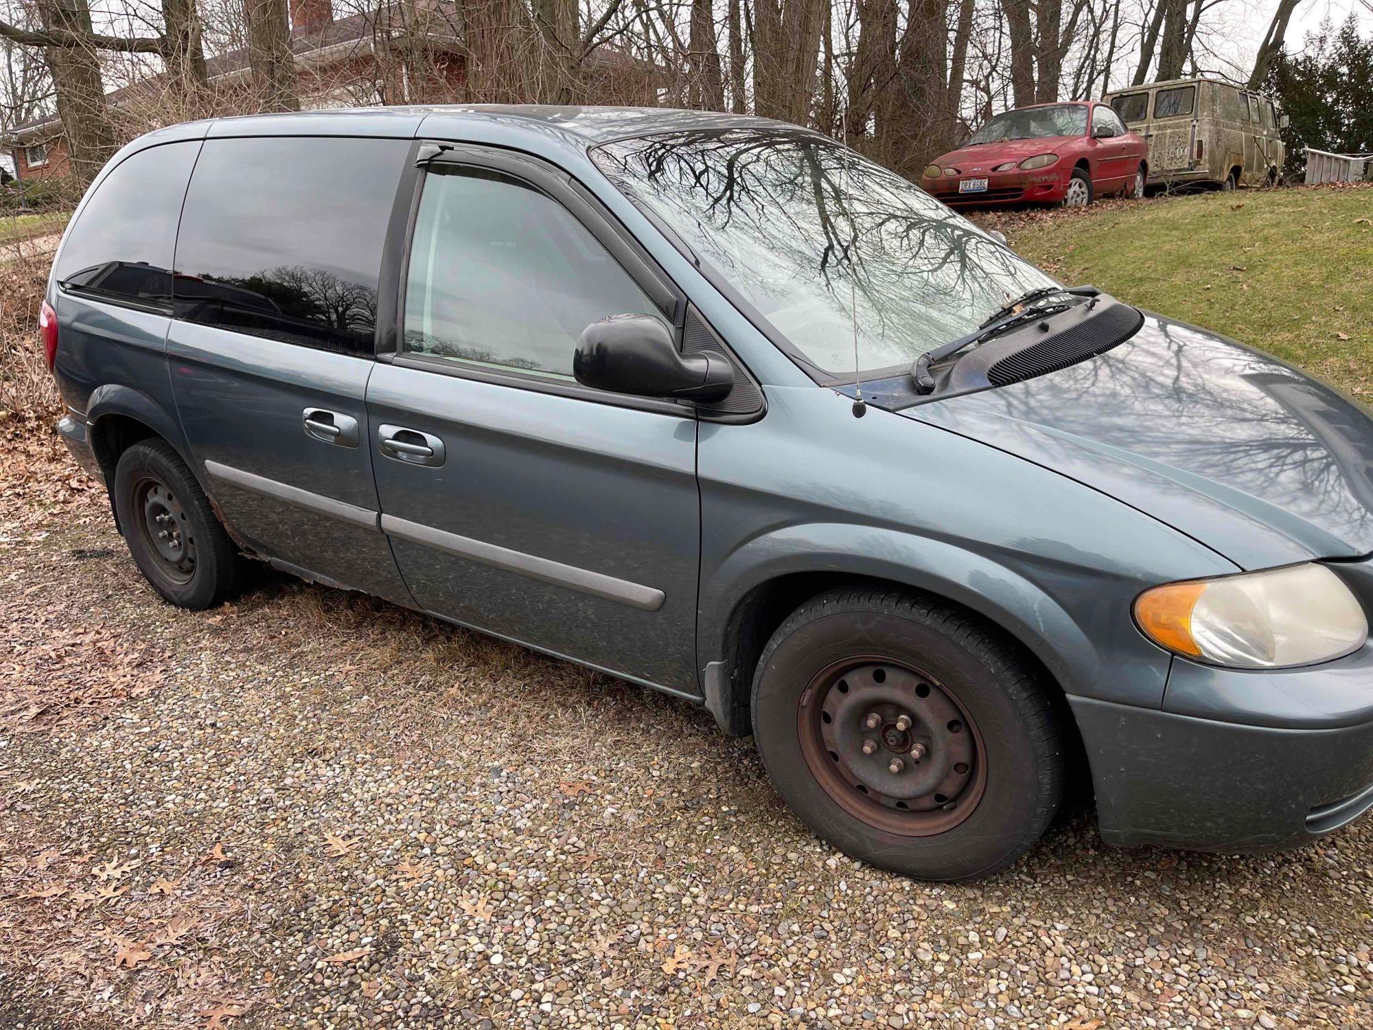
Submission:
[[[43,338],[168,600],[244,559],[699,702],[846,853],[961,879],[1373,805],[1373,422],[835,141],[697,111],[194,122]]]

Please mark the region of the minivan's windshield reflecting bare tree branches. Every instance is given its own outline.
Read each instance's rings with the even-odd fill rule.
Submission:
[[[894,372],[1053,284],[919,187],[816,133],[692,130],[592,157],[835,379],[855,369],[855,324],[857,367]]]

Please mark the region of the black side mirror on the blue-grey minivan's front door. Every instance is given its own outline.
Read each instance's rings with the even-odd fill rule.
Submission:
[[[735,369],[721,354],[677,353],[671,330],[652,314],[614,314],[588,325],[573,375],[597,390],[703,404],[722,401],[735,386]]]

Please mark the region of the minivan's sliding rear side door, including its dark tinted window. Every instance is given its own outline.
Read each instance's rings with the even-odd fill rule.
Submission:
[[[239,540],[409,603],[380,531],[364,394],[408,140],[206,140],[177,239],[177,412]]]

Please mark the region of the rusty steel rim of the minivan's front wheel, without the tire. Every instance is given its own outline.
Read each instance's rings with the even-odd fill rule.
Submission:
[[[902,662],[862,656],[822,669],[802,692],[796,728],[825,794],[888,834],[947,832],[986,791],[986,750],[968,709]]]

